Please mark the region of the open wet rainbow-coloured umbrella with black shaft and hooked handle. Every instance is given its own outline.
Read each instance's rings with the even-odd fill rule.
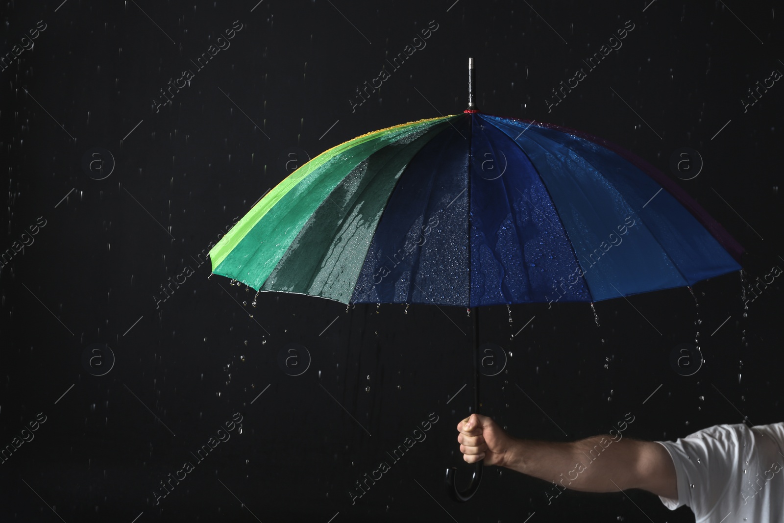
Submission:
[[[301,166],[212,248],[212,272],[259,292],[469,308],[478,412],[477,307],[593,303],[740,269],[742,247],[652,165],[586,133],[482,114],[472,90],[463,114]],[[452,499],[473,496],[481,470],[459,491],[448,469]]]

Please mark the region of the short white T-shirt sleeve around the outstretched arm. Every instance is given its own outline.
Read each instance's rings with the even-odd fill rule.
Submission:
[[[656,441],[670,452],[677,477],[678,499],[659,496],[665,507],[690,507],[697,521],[710,514],[738,478],[748,432],[742,423],[716,425],[677,441]]]

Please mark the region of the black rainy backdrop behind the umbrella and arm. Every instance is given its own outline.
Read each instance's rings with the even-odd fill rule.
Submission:
[[[761,278],[784,267],[784,86],[746,111],[742,98],[784,71],[776,5],[256,1],[3,4],[4,54],[38,20],[46,28],[0,72],[0,247],[39,216],[46,224],[0,271],[0,445],[39,412],[46,421],[0,464],[0,519],[694,521],[642,491],[568,491],[548,504],[545,481],[495,467],[474,499],[452,503],[445,467],[461,483],[470,472],[456,443],[472,403],[465,310],[347,311],[274,293],[252,307],[254,292],[193,260],[292,158],[463,111],[474,56],[481,111],[581,129],[648,159],[747,249],[746,278]],[[198,71],[191,60],[234,20],[230,47]],[[426,47],[352,111],[355,90],[431,20]],[[548,112],[550,90],[626,20],[622,48]],[[190,85],[156,112],[159,89],[184,69]],[[93,147],[116,162],[103,180],[82,168]],[[704,161],[692,180],[670,172],[681,147]],[[156,309],[185,266],[195,274]],[[606,433],[627,412],[627,436],[660,440],[744,416],[780,421],[780,287],[744,315],[741,277],[727,274],[695,286],[699,307],[687,289],[597,303],[598,326],[585,304],[517,305],[511,324],[506,307],[483,309],[481,340],[509,358],[482,377],[482,412],[554,441]],[[697,332],[706,361],[681,376],[670,354]],[[108,350],[82,359],[93,343],[116,358],[103,376]],[[299,376],[278,365],[291,343],[311,358]],[[159,481],[235,412],[241,434],[156,505]],[[432,412],[426,440],[352,504],[354,482]]]

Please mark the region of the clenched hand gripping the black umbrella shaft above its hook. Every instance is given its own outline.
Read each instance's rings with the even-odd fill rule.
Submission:
[[[457,441],[466,463],[484,459],[485,465],[506,466],[510,457],[506,451],[511,451],[515,439],[488,416],[471,414],[457,424],[457,430],[460,433]]]

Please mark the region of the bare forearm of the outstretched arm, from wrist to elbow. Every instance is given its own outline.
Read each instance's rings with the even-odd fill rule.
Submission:
[[[629,438],[593,436],[569,443],[515,439],[505,467],[562,488],[617,492],[632,488],[633,445]]]

